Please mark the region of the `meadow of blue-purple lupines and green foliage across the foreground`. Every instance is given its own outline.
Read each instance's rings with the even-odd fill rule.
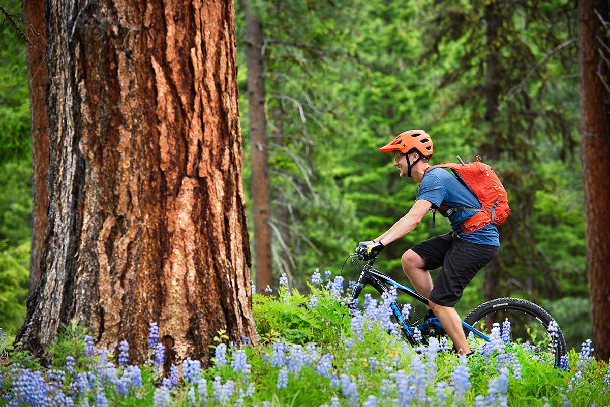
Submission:
[[[279,292],[254,294],[261,345],[251,346],[248,338],[230,343],[220,331],[207,369],[187,358],[163,372],[165,349],[156,322],[149,329],[149,361],[142,366],[130,364],[127,342],[113,355],[95,349],[91,336],[73,327],[66,341],[73,345],[51,350],[54,363],[43,367],[28,355],[7,352],[11,345],[1,333],[0,405],[610,405],[609,365],[592,356],[590,341],[571,350],[559,367],[511,344],[509,321],[496,325],[492,341],[469,358],[456,355],[444,338],[414,348],[390,319],[395,293],[365,296],[363,312],[354,316],[345,306],[344,283],[340,275],[316,271],[310,293],[303,295],[282,276]]]

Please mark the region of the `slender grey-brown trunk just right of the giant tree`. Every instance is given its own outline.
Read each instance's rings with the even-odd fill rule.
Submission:
[[[252,216],[254,220],[254,271],[257,292],[273,285],[271,258],[271,193],[265,120],[265,80],[260,19],[246,5],[246,64],[252,160]]]

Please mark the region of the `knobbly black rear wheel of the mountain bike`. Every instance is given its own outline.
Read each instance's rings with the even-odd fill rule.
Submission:
[[[529,347],[531,352],[545,362],[559,366],[561,356],[567,353],[564,335],[556,326],[553,334],[549,326],[553,318],[542,307],[518,298],[498,298],[476,307],[464,318],[473,328],[491,335],[493,324],[500,327],[504,320],[511,323],[511,342]],[[470,331],[465,331],[470,349],[476,350],[487,344]]]

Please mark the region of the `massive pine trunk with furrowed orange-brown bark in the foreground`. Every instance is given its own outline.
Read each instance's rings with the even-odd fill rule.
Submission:
[[[49,0],[49,226],[18,341],[61,324],[169,362],[256,342],[232,2]]]

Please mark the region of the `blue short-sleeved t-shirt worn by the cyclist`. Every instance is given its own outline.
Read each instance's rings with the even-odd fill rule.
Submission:
[[[468,191],[453,174],[444,168],[432,168],[426,172],[422,183],[417,189],[415,200],[418,199],[425,199],[436,208],[440,208],[440,205],[447,205],[450,208],[481,207],[481,202],[476,199],[475,194]],[[475,211],[456,211],[452,213],[448,217],[451,222],[451,228],[458,230],[459,225],[475,213]],[[500,246],[498,229],[494,224],[475,230],[475,232],[460,233],[459,239],[465,242]]]

